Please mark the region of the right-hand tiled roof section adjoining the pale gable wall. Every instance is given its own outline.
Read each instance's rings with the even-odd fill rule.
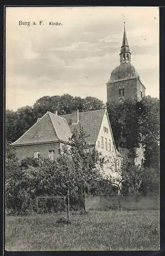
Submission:
[[[83,131],[87,136],[88,145],[94,145],[99,135],[104,114],[105,109],[80,112],[79,123],[73,123],[70,125],[71,132],[73,132],[75,128],[78,129],[79,125],[81,125]],[[71,119],[71,114],[63,115],[61,117],[65,118],[66,121],[69,123]]]

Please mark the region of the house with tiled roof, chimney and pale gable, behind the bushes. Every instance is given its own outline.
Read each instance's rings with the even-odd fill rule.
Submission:
[[[94,147],[104,157],[104,169],[108,174],[112,169],[113,159],[118,154],[107,110],[88,112],[74,111],[58,116],[56,112],[46,112],[19,139],[12,143],[19,160],[26,157],[56,158],[64,143],[68,143],[74,129],[81,125],[86,134],[87,145]]]

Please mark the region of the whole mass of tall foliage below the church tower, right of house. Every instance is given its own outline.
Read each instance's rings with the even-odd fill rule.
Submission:
[[[117,147],[127,148],[135,158],[135,148],[145,148],[145,166],[159,165],[159,99],[145,96],[107,104],[107,112]]]

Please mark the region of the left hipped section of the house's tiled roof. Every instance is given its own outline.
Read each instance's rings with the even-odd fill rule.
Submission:
[[[68,141],[71,131],[64,118],[46,112],[28,131],[12,145],[36,144],[44,142]]]

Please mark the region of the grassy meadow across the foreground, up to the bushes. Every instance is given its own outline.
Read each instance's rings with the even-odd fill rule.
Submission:
[[[87,200],[87,214],[71,212],[71,224],[56,223],[66,212],[6,216],[6,250],[159,250],[158,198],[122,200],[120,210],[112,198]]]

